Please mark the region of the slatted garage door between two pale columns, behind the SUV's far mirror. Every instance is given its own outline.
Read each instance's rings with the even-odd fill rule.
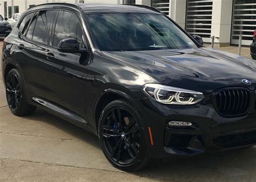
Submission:
[[[212,0],[187,0],[186,31],[210,42],[211,24]]]

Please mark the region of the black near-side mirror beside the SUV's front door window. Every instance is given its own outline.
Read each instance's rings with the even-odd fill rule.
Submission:
[[[65,53],[82,53],[86,52],[85,49],[80,50],[79,43],[77,39],[69,38],[69,39],[63,39],[60,40],[58,44],[58,51],[59,52],[65,52]]]

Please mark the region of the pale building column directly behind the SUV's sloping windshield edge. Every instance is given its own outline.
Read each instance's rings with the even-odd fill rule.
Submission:
[[[186,0],[170,0],[170,18],[185,29],[186,24]]]

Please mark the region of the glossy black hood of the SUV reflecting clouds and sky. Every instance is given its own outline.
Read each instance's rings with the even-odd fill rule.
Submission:
[[[223,87],[256,86],[256,63],[212,48],[103,52],[137,67],[159,82],[179,88],[212,92]],[[246,85],[242,79],[252,82]]]

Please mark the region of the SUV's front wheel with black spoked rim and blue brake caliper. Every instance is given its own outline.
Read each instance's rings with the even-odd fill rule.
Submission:
[[[116,115],[116,118],[118,117],[120,120],[114,121],[112,115]],[[107,122],[108,125],[106,125]],[[120,134],[121,132],[122,134]],[[142,119],[129,102],[116,100],[107,104],[100,115],[98,133],[105,157],[117,169],[128,172],[138,171],[150,163],[142,129]],[[125,136],[122,136],[124,133]],[[120,140],[121,142],[119,142]],[[114,145],[112,150],[110,150],[111,144]],[[119,151],[116,153],[117,147]]]

